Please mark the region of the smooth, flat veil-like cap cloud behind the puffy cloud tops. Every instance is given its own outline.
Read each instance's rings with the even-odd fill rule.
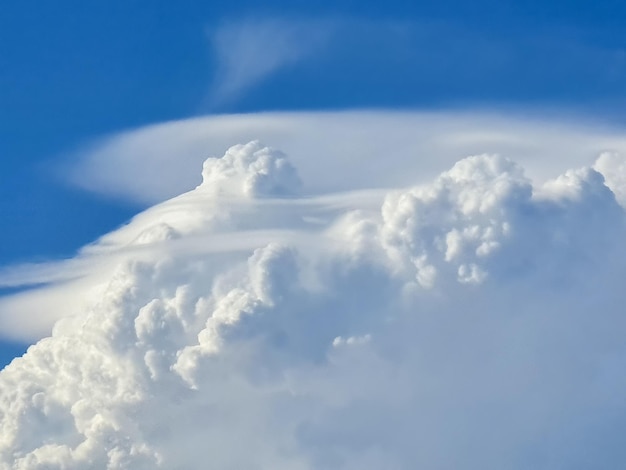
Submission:
[[[78,186],[154,204],[200,182],[189,168],[233,142],[259,139],[291,156],[306,194],[427,182],[465,155],[506,155],[544,181],[626,154],[619,129],[496,112],[350,111],[211,116],[124,132],[80,151],[60,171]]]

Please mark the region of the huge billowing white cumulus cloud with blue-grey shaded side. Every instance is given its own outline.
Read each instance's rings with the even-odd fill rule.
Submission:
[[[539,184],[478,154],[302,196],[284,154],[232,147],[77,259],[0,276],[64,279],[73,313],[0,373],[0,468],[615,467],[623,169]]]

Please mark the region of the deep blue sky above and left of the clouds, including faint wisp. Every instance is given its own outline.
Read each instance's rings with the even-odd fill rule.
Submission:
[[[618,1],[61,0],[0,11],[0,265],[71,255],[142,208],[59,171],[81,145],[124,129],[349,108],[623,118]],[[0,364],[23,348],[3,343]]]

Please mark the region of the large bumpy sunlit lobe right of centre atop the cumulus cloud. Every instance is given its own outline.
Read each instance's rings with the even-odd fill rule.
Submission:
[[[460,282],[479,283],[486,276],[481,260],[508,237],[510,212],[527,201],[531,191],[513,162],[498,156],[469,157],[434,184],[387,198],[384,245],[399,263],[412,265],[422,287],[433,287],[446,269]]]

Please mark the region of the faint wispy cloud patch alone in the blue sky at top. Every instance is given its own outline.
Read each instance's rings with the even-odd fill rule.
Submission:
[[[330,21],[250,18],[210,30],[217,58],[212,104],[231,101],[281,68],[317,52],[332,29]]]

